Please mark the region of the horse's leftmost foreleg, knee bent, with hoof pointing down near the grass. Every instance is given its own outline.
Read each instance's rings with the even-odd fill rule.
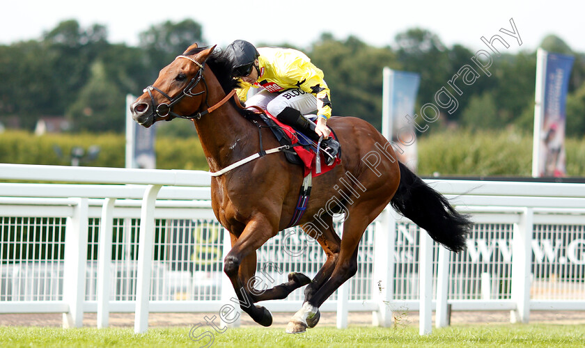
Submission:
[[[257,215],[233,243],[231,251],[224,259],[224,272],[230,278],[240,308],[260,325],[270,326],[272,314],[263,306],[254,306],[253,296],[250,294],[247,284],[250,270],[256,268],[256,255],[250,258],[275,232],[264,216]],[[244,262],[245,260],[245,262]],[[253,274],[253,273],[251,273]]]

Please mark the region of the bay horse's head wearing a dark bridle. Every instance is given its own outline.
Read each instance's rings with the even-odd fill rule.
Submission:
[[[214,47],[197,49],[197,44],[193,44],[160,70],[155,83],[144,88],[143,94],[130,105],[132,118],[148,128],[157,121],[196,113],[207,97],[203,70]]]

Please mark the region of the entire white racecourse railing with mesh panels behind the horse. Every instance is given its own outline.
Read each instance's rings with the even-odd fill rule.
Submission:
[[[0,184],[0,313],[64,313],[65,327],[98,313],[106,327],[109,313],[134,312],[137,332],[149,312],[239,322],[237,311],[220,312],[239,306],[222,274],[230,238],[212,212],[208,173],[0,164],[0,180],[68,182]],[[321,307],[337,312],[338,327],[349,311],[390,326],[393,312],[419,310],[428,333],[432,310],[437,326],[451,310],[510,310],[521,322],[531,310],[585,310],[585,184],[427,181],[471,214],[467,250],[450,253],[385,210],[361,239],[356,276]],[[260,290],[325,262],[298,228],[257,254]],[[303,297],[265,306],[294,312]]]

